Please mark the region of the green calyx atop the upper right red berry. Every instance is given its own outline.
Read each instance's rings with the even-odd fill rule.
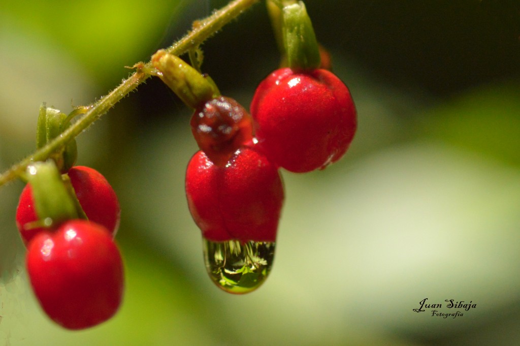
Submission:
[[[321,57],[318,41],[314,33],[305,4],[284,6],[283,44],[287,53],[288,66],[294,70],[313,70],[320,66]]]

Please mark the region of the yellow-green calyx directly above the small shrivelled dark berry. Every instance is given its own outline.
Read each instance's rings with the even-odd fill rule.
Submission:
[[[161,49],[152,56],[152,65],[160,73],[159,78],[170,87],[183,102],[198,108],[206,101],[220,96],[213,80],[188,65],[179,57]]]

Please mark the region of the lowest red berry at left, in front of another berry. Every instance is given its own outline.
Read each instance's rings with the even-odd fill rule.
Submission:
[[[85,220],[63,223],[31,241],[27,270],[45,313],[68,329],[112,317],[123,297],[123,263],[105,227]]]

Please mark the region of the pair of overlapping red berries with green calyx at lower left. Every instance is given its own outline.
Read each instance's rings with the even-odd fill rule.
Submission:
[[[41,118],[53,118],[56,110],[42,108]],[[49,126],[42,129],[38,139],[41,132],[49,134]],[[28,249],[26,266],[37,300],[68,329],[106,321],[118,311],[124,288],[123,262],[113,240],[120,221],[114,190],[92,168],[58,170],[55,161],[31,165],[28,176],[16,225]]]

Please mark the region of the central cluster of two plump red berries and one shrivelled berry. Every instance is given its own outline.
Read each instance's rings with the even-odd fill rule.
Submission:
[[[193,113],[201,151],[188,164],[186,195],[206,239],[275,241],[278,168],[323,169],[343,156],[356,130],[347,87],[322,69],[274,71],[257,87],[251,115],[227,97]]]

